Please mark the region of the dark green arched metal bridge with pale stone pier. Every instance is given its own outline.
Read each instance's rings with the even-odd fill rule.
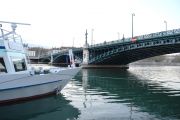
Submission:
[[[91,46],[86,43],[83,48],[73,49],[75,59],[88,66],[123,66],[145,58],[177,52],[180,52],[180,29],[123,38]],[[53,63],[69,63],[68,51],[52,56]],[[50,58],[50,55],[42,56],[40,61],[50,62]]]

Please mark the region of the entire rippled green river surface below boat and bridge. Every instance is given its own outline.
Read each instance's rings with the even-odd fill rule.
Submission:
[[[0,120],[178,119],[180,66],[83,69],[58,96],[0,107]]]

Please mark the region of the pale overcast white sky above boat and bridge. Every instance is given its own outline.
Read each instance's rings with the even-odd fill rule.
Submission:
[[[0,21],[18,26],[24,43],[75,46],[180,28],[180,0],[0,0]],[[8,29],[7,25],[3,27]]]

